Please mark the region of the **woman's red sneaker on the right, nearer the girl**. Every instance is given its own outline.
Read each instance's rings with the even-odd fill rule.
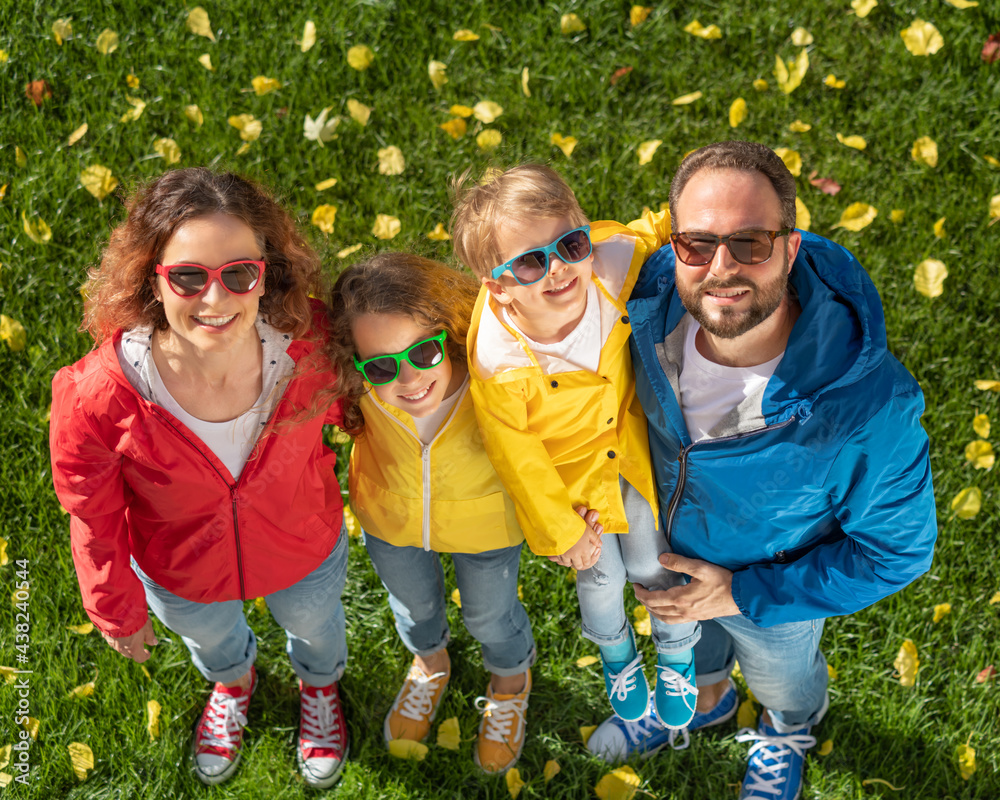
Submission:
[[[299,681],[301,720],[295,748],[299,772],[318,789],[333,786],[347,759],[347,725],[337,684],[308,686]]]

